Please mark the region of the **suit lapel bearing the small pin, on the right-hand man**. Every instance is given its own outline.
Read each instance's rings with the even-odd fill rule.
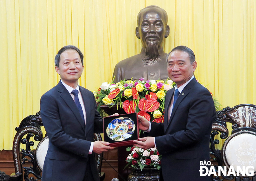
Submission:
[[[180,105],[180,103],[182,102],[182,100],[189,94],[189,89],[192,88],[192,86],[195,84],[196,82],[196,79],[192,79],[189,84],[187,84],[184,89],[182,90],[182,92],[180,92],[180,95],[174,105],[174,108],[173,108],[173,111],[171,112],[171,117],[170,117],[170,120],[168,121],[168,124],[167,126],[164,126],[164,132],[167,130],[167,128],[169,127],[172,119],[173,119],[173,116],[178,108],[178,106]],[[169,103],[170,104],[170,103]]]

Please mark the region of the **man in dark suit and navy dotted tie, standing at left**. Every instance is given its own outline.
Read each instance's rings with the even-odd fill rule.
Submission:
[[[55,56],[55,66],[61,81],[40,103],[49,137],[42,181],[99,181],[92,152],[113,148],[108,142],[93,142],[93,133],[102,133],[103,123],[93,93],[78,85],[83,54],[75,46],[64,46]]]

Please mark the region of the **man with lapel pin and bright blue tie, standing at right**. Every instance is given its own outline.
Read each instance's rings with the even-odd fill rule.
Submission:
[[[178,46],[166,59],[168,75],[176,87],[166,94],[164,123],[150,123],[139,116],[139,128],[149,132],[149,137],[135,140],[135,146],[156,147],[162,154],[164,181],[210,181],[210,177],[200,176],[199,169],[200,161],[209,161],[209,136],[215,116],[212,96],[194,78],[197,63],[192,50]]]

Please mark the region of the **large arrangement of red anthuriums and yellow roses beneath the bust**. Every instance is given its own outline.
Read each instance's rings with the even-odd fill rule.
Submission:
[[[144,80],[144,78],[139,79],[138,82],[132,79],[121,80],[116,84],[104,82],[95,92],[98,110],[100,111],[100,106],[104,104],[116,104],[126,113],[137,112],[148,121],[160,123],[164,121],[166,92],[174,85],[171,80]]]

